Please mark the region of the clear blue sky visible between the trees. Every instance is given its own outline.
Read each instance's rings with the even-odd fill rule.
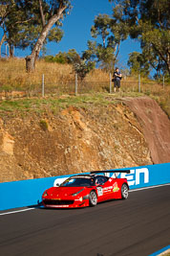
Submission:
[[[49,43],[47,45],[47,55],[55,55],[59,51],[68,52],[69,49],[75,49],[77,53],[87,49],[87,41],[92,39],[91,27],[94,19],[99,13],[112,14],[112,5],[108,0],[74,0],[73,10],[67,15],[63,22],[64,36],[59,43]],[[1,34],[2,36],[2,34]],[[119,65],[127,65],[128,54],[134,51],[140,51],[137,41],[127,39],[120,45],[118,55]],[[5,53],[5,45],[2,47]],[[16,57],[26,57],[30,50],[21,51],[15,49]]]

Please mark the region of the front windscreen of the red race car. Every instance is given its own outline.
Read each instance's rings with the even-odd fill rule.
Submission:
[[[66,179],[60,187],[86,187],[93,186],[94,179],[93,178],[85,178],[85,177],[72,177]]]

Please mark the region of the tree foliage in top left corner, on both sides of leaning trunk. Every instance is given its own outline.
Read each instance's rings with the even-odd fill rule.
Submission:
[[[65,5],[67,8],[63,11],[63,15],[66,15],[71,9],[71,1],[0,0],[0,26],[3,28],[6,41],[10,45],[11,56],[13,46],[21,49],[29,46],[33,49],[37,38],[42,35],[43,29],[52,20],[53,15],[57,14],[59,8],[63,8]],[[60,29],[61,21],[60,19],[55,22],[43,41],[44,45],[48,41],[58,42],[61,40],[63,36]]]

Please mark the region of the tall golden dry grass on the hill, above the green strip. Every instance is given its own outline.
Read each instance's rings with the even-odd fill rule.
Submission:
[[[74,95],[75,74],[72,65],[36,61],[36,70],[26,72],[24,58],[0,58],[0,99],[2,92],[25,91],[28,97],[41,97],[42,75],[45,78],[45,95]],[[110,91],[109,73],[95,69],[91,71],[83,82],[78,81],[78,94],[108,93]],[[170,84],[158,84],[156,81],[141,78],[140,92],[138,93],[138,77],[127,77],[121,81],[121,93],[118,97],[137,97],[148,95],[159,103],[170,116]],[[112,84],[112,90],[113,90]],[[12,95],[13,97],[13,95]],[[11,98],[12,98],[11,97]],[[6,98],[6,97],[5,97]],[[13,97],[14,98],[14,97]],[[8,98],[10,99],[10,97]]]

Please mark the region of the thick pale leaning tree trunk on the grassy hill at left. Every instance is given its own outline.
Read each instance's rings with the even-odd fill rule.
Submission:
[[[32,49],[32,54],[30,56],[26,57],[26,70],[27,72],[32,72],[35,69],[35,61],[36,58],[38,58],[40,50],[44,44],[44,41],[47,37],[47,35],[49,34],[51,28],[53,27],[54,23],[61,18],[62,13],[64,12],[64,10],[67,8],[67,6],[64,7],[60,7],[58,9],[58,12],[56,14],[54,14],[49,22],[44,26],[41,34],[39,35],[33,49]]]

